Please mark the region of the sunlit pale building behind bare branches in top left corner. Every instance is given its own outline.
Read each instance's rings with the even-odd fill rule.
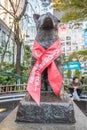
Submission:
[[[18,5],[18,2],[17,0],[14,0],[13,1],[13,4],[14,4],[14,8],[17,7]],[[19,14],[21,9],[22,9],[22,3],[23,1],[20,1],[20,4],[19,4],[19,7],[17,9],[17,12],[16,14]],[[12,29],[12,23],[13,23],[13,16],[11,14],[13,14],[13,9],[12,9],[12,6],[9,2],[9,0],[0,0],[0,4],[6,8],[6,10],[8,10],[8,12],[6,10],[4,10],[2,7],[0,7],[0,18],[2,19],[2,21],[4,21],[4,23],[6,23],[6,25]]]

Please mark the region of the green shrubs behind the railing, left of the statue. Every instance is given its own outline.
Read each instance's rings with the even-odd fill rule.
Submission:
[[[0,84],[16,84],[18,79],[20,79],[20,83],[26,83],[29,75],[29,68],[21,65],[21,74],[15,73],[15,68],[12,64],[4,63],[5,67],[0,71]]]

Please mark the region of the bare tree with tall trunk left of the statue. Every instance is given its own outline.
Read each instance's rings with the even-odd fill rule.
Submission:
[[[2,4],[0,4],[0,8],[3,9],[4,13],[8,13],[12,19],[12,27],[14,28],[14,41],[17,45],[17,55],[16,55],[16,73],[20,74],[21,72],[21,47],[23,44],[23,37],[22,37],[22,31],[21,31],[21,19],[24,16],[24,13],[27,8],[28,0],[24,0],[23,4],[21,0],[8,0],[10,5],[10,10],[8,10],[6,7],[4,7]],[[23,6],[23,8],[20,9],[20,5]],[[12,29],[11,28],[11,31]]]

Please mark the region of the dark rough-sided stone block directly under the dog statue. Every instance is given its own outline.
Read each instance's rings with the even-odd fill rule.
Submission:
[[[75,123],[74,107],[69,97],[59,99],[52,92],[41,94],[38,106],[29,95],[20,102],[16,121],[30,123]]]

